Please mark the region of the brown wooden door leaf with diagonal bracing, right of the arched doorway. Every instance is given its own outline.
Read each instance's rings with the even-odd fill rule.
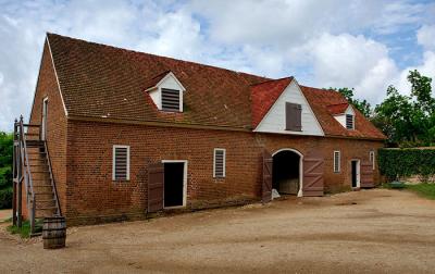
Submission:
[[[323,196],[324,159],[320,153],[303,157],[303,196]]]

